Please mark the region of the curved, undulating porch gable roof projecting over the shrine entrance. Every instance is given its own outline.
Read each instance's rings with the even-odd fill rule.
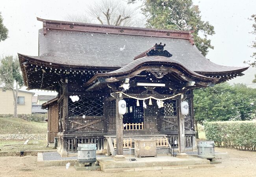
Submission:
[[[122,68],[119,68],[115,71],[108,73],[97,73],[93,76],[89,81],[85,83],[85,87],[89,88],[88,90],[97,87],[101,87],[100,85],[112,82],[122,81],[124,78],[132,78],[140,74],[142,71],[148,70],[148,66],[152,69],[152,72],[158,72],[158,70],[162,70],[163,74],[172,73],[173,75],[182,75],[180,79],[182,81],[187,81],[185,77],[193,77],[193,80],[197,80],[196,85],[200,87],[206,87],[204,81],[217,83],[220,78],[212,78],[200,75],[196,72],[189,70],[182,63],[171,59],[171,57],[166,56],[145,56],[139,59],[136,59]],[[165,70],[161,67],[165,67]],[[150,70],[149,69],[149,70]],[[165,75],[164,74],[164,75]]]

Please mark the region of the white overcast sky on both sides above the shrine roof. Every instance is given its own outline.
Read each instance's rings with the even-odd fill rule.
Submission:
[[[0,55],[38,55],[38,30],[42,22],[36,17],[65,20],[67,14],[84,13],[92,0],[1,0],[0,12],[9,38],[0,42]],[[252,21],[256,14],[256,0],[193,0],[199,6],[202,19],[215,28],[210,37],[214,50],[206,56],[214,63],[228,66],[244,66],[255,51],[249,47],[255,36]],[[132,5],[132,8],[138,4]]]

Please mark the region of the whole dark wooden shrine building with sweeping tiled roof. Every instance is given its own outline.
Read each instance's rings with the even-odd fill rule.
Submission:
[[[247,69],[206,59],[193,31],[37,20],[43,22],[39,56],[18,54],[20,67],[28,89],[58,92],[43,106],[58,109],[48,123],[58,123],[52,136],[58,136],[62,156],[76,152],[78,143],[95,142],[98,150],[122,158],[135,139],[155,140],[158,153],[170,151],[176,140],[182,156],[195,147],[193,89]],[[186,116],[183,100],[189,103]]]

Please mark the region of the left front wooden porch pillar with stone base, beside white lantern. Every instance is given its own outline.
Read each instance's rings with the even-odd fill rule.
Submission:
[[[115,122],[116,122],[116,146],[117,146],[117,155],[115,155],[115,160],[125,160],[124,157],[124,152],[123,152],[123,138],[122,138],[122,131],[123,131],[123,122],[122,122],[122,115],[119,114],[118,112],[118,102],[121,100],[121,97],[119,97],[119,94],[116,96],[116,117],[115,117]]]

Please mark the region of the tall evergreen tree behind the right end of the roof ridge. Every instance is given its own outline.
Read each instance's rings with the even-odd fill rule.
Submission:
[[[135,0],[128,2],[134,3]],[[141,10],[148,17],[148,28],[195,30],[195,45],[202,55],[206,56],[209,48],[213,49],[207,37],[215,34],[214,27],[201,19],[199,8],[192,0],[147,0]]]

